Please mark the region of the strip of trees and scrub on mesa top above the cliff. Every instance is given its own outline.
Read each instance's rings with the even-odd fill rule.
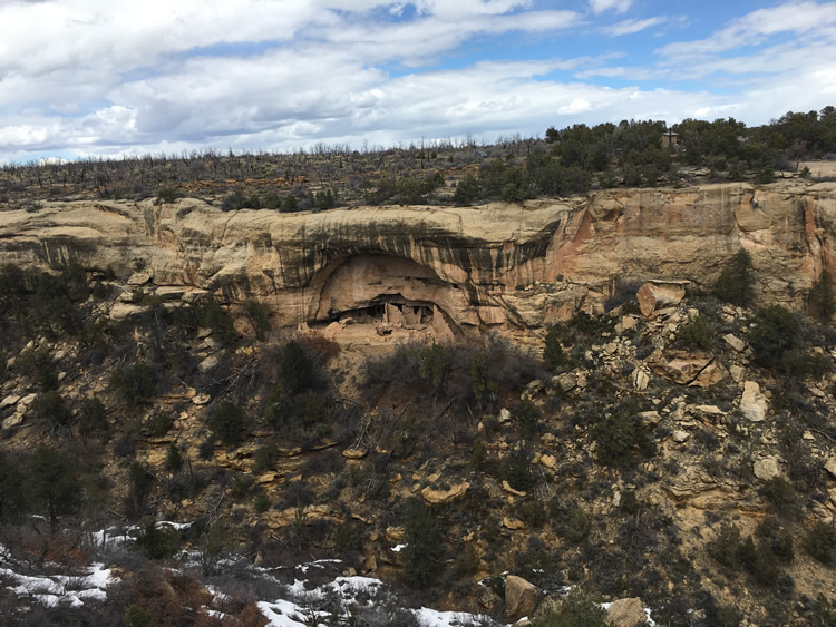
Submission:
[[[675,135],[671,135],[675,134]],[[665,140],[663,136],[667,135]],[[709,179],[769,183],[801,159],[836,155],[836,108],[794,112],[759,127],[733,118],[622,120],[385,148],[317,144],[294,153],[148,154],[0,164],[0,208],[38,210],[46,199],[202,197],[222,209],[324,210],[341,205],[522,202],[591,188],[657,187]],[[804,173],[803,173],[804,174]],[[807,173],[809,174],[809,173]]]

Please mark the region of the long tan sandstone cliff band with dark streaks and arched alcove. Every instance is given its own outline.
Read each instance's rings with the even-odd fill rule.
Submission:
[[[752,255],[759,302],[800,306],[820,271],[833,268],[834,218],[833,184],[317,214],[224,213],[193,198],[55,203],[0,213],[0,263],[76,261],[126,278],[145,265],[147,276],[134,283],[227,301],[252,295],[288,325],[395,303],[459,330],[537,326],[599,307],[616,280],[707,285],[740,246]]]

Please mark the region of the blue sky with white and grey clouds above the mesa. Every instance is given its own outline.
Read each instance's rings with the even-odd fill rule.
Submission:
[[[0,163],[836,105],[836,1],[0,0]]]

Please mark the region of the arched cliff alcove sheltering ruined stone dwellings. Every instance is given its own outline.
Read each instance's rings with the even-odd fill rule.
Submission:
[[[336,337],[450,339],[461,333],[469,302],[464,291],[428,267],[387,255],[359,255],[329,264],[311,282],[319,291],[310,326]],[[356,327],[356,329],[352,329]]]

